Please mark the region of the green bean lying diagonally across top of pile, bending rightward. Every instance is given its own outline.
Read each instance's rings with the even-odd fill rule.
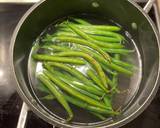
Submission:
[[[123,45],[118,44],[118,43],[106,43],[106,42],[100,42],[100,41],[94,40],[92,37],[84,33],[82,30],[76,28],[75,25],[71,25],[71,24],[67,24],[67,25],[68,27],[70,27],[70,29],[72,29],[72,31],[77,33],[80,37],[88,40],[89,42],[93,42],[94,44],[98,46],[105,47],[105,48],[123,48]],[[108,54],[107,54],[107,57],[109,58]]]

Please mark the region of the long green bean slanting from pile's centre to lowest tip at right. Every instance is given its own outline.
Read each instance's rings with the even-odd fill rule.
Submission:
[[[108,62],[106,61],[104,58],[102,58],[101,56],[99,56],[99,54],[93,52],[92,50],[90,49],[87,49],[87,48],[82,48],[80,47],[82,50],[85,50],[86,52],[88,52],[88,54],[92,55],[95,59],[97,59],[97,61],[99,61],[100,63],[102,63],[104,66],[106,67],[109,67],[111,69],[114,69],[118,72],[121,72],[123,74],[127,74],[127,75],[132,75],[133,73],[123,67],[120,67],[112,62]]]

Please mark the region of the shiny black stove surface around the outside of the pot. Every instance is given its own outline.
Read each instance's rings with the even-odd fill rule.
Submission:
[[[9,45],[13,30],[31,4],[0,4],[0,128],[16,128],[22,100],[16,93],[9,68]],[[150,16],[155,21],[154,10]],[[5,72],[4,72],[5,71]],[[26,128],[52,128],[29,112]],[[160,90],[150,106],[122,128],[160,128]]]

